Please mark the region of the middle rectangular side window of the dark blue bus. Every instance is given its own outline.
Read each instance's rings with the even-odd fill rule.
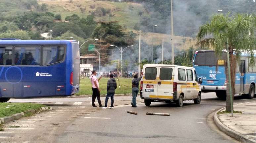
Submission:
[[[40,47],[15,47],[15,65],[40,65]]]

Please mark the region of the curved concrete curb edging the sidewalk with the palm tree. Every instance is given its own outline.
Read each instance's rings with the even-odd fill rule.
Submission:
[[[244,143],[256,143],[256,141],[254,141],[253,139],[250,139],[238,132],[235,132],[234,130],[228,128],[227,126],[225,126],[218,118],[218,115],[217,113],[223,109],[225,109],[226,107],[224,108],[221,108],[219,109],[218,111],[216,111],[214,113],[214,117],[213,117],[213,120],[214,120],[214,123],[215,125],[219,128],[220,131],[224,132],[225,134],[227,134],[228,136],[232,137],[232,138],[235,138],[236,140],[240,141],[240,142],[244,142]]]

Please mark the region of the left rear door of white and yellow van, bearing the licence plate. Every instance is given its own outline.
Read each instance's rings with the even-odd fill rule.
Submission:
[[[142,85],[144,98],[157,98],[157,67],[145,67]]]

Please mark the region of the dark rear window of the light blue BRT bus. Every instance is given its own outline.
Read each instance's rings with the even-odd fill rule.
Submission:
[[[223,52],[221,57],[217,57],[214,51],[198,51],[195,56],[194,65],[198,66],[224,66],[226,55]]]

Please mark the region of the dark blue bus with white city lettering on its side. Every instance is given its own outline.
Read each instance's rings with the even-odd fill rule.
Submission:
[[[0,40],[0,102],[79,91],[77,41]]]

